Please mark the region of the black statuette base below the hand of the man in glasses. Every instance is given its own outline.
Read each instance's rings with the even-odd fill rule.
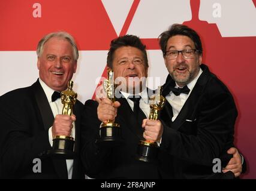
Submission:
[[[156,162],[158,155],[158,145],[156,142],[140,140],[137,148],[138,161],[142,162]]]

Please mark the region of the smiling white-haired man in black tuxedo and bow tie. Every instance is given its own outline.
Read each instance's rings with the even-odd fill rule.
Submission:
[[[46,155],[56,135],[73,136],[74,152],[79,154],[83,104],[77,100],[74,115],[61,115],[60,98],[76,72],[76,43],[66,32],[50,33],[38,43],[37,56],[40,78],[30,87],[0,97],[1,177],[84,178],[79,158],[65,160]]]

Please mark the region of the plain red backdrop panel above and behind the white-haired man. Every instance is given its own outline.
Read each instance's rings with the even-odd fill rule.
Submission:
[[[33,17],[35,2],[41,17]],[[44,35],[58,30],[71,33],[79,50],[108,50],[116,38],[100,0],[0,1],[0,23],[0,51],[35,51]]]

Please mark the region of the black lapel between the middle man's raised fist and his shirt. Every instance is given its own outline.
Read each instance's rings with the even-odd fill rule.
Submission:
[[[121,103],[121,106],[118,108],[118,113],[122,113],[122,115],[117,116],[117,119],[124,121],[132,133],[140,138],[140,140],[144,140],[143,128],[138,127],[138,122],[136,121],[134,113],[132,112],[127,100],[125,98],[118,98],[116,101]]]

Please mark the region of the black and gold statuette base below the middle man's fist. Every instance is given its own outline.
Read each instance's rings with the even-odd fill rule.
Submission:
[[[98,146],[115,147],[122,143],[121,128],[119,124],[107,123],[101,125],[100,138],[96,141]]]

